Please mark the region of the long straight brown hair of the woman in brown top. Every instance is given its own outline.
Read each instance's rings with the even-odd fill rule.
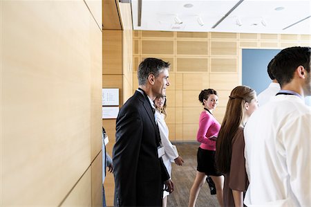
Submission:
[[[235,87],[227,103],[227,109],[216,142],[216,166],[221,173],[230,170],[232,155],[232,139],[243,120],[245,102],[251,102],[256,91],[246,86]]]

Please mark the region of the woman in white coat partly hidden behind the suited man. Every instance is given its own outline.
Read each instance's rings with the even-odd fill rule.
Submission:
[[[167,127],[167,124],[165,123],[164,118],[167,116],[167,97],[166,96],[158,96],[154,101],[154,104],[156,105],[156,122],[159,127],[160,132],[160,138],[162,146],[164,147],[165,154],[162,156],[163,163],[165,167],[167,168],[167,172],[169,172],[169,177],[171,177],[171,163],[175,162],[176,165],[182,165],[184,161],[182,158],[178,155],[176,146],[173,146],[171,144],[171,141],[169,141],[169,128]],[[167,206],[167,196],[169,195],[169,192],[164,190],[163,192],[163,200],[162,200],[162,207]]]

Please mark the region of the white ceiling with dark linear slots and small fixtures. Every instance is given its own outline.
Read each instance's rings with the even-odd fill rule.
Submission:
[[[244,0],[216,28],[212,28],[238,2],[238,0],[142,0],[141,26],[138,26],[138,0],[132,0],[133,29],[311,35],[311,0]],[[187,3],[193,6],[186,8]],[[283,10],[276,10],[280,7],[283,7]],[[182,24],[176,24],[174,20],[176,16]],[[199,17],[204,23],[203,26],[198,23]],[[238,26],[237,19],[241,26]],[[295,24],[298,21],[301,22]],[[292,24],[294,25],[291,26]],[[290,27],[286,28],[288,26]]]

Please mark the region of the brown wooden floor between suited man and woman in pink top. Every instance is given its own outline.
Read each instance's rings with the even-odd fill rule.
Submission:
[[[174,143],[178,149],[179,155],[185,161],[184,165],[178,166],[172,163],[171,178],[174,183],[174,192],[169,195],[167,206],[188,206],[189,193],[194,179],[196,177],[196,153],[198,152],[198,143]],[[219,206],[216,195],[211,195],[209,186],[205,182],[200,190],[196,206]]]

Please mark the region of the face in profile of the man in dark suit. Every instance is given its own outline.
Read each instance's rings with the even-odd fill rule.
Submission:
[[[169,84],[169,71],[168,69],[163,69],[162,71],[160,71],[158,77],[153,84],[153,95],[165,96]]]

